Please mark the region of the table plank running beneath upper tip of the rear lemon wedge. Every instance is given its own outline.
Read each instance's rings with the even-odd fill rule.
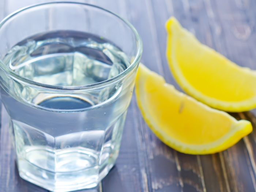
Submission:
[[[163,68],[165,69],[165,79],[168,83],[174,84],[176,89],[180,87],[174,81],[170,74],[167,61],[165,59],[166,32],[165,22],[170,16],[175,16],[181,21],[181,24],[196,34],[197,38],[212,46],[212,39],[209,35],[210,26],[208,24],[207,12],[204,9],[204,1],[171,1],[166,0],[165,4],[159,1],[152,1],[158,31],[158,42]],[[169,7],[168,7],[169,6]],[[163,10],[167,7],[168,14]],[[225,181],[223,181],[221,161],[218,154],[193,156],[177,153],[180,165],[183,191],[227,191]],[[200,160],[200,161],[198,161]],[[202,172],[200,172],[202,170]],[[204,172],[204,174],[203,174]]]

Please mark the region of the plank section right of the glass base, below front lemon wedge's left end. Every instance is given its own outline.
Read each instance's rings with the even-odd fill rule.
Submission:
[[[134,101],[135,103],[135,101]],[[134,117],[137,116],[139,124],[139,138],[141,151],[144,155],[143,177],[146,191],[181,191],[182,181],[180,180],[180,169],[176,164],[175,151],[163,144],[148,129],[142,120],[138,109],[135,109]]]

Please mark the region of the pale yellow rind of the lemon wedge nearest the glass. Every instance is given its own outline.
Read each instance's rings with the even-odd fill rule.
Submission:
[[[142,65],[142,67],[144,66]],[[144,103],[146,101],[145,99],[146,95],[144,95],[146,92],[144,90],[139,91],[143,89],[143,86],[141,84],[143,84],[143,82],[141,82],[139,78],[136,78],[136,88],[135,88],[136,100],[144,120],[146,121],[148,127],[150,127],[150,129],[155,133],[155,135],[163,143],[174,148],[177,151],[180,151],[182,153],[187,153],[187,154],[217,153],[219,151],[223,151],[233,146],[233,144],[237,143],[241,138],[248,135],[252,131],[252,125],[249,121],[246,121],[246,120],[237,121],[234,117],[230,116],[226,112],[222,112],[217,109],[212,109],[207,105],[196,101],[194,98],[187,96],[189,99],[192,99],[194,100],[194,102],[197,102],[198,105],[203,105],[206,110],[222,113],[223,115],[227,116],[232,121],[232,123],[231,123],[230,131],[227,132],[225,135],[223,135],[221,138],[215,140],[214,142],[206,143],[206,144],[186,144],[184,142],[180,142],[179,140],[172,138],[172,136],[168,135],[165,131],[159,128],[159,125],[153,121],[153,118],[147,115],[148,113],[146,113],[146,111],[148,111],[147,110],[148,104]]]

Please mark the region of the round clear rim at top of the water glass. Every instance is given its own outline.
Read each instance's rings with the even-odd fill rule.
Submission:
[[[94,7],[97,8],[99,10],[102,11],[106,11],[114,16],[116,16],[117,18],[121,19],[126,25],[128,25],[128,27],[133,31],[133,33],[135,34],[136,37],[136,41],[138,42],[138,50],[136,52],[136,56],[134,58],[134,60],[132,61],[131,65],[125,69],[123,72],[121,72],[120,74],[118,74],[117,76],[114,76],[111,79],[107,79],[105,81],[102,82],[98,82],[98,83],[94,83],[94,84],[89,84],[89,85],[82,85],[82,86],[54,86],[54,85],[50,85],[50,84],[43,84],[43,83],[39,83],[39,82],[35,82],[33,80],[29,80],[23,76],[20,76],[18,74],[16,74],[14,71],[12,71],[11,69],[7,68],[3,62],[0,60],[0,68],[8,75],[10,76],[12,79],[17,80],[18,82],[22,83],[22,84],[27,84],[30,86],[35,86],[35,87],[41,87],[41,88],[46,88],[46,89],[54,89],[54,90],[82,90],[82,89],[95,89],[98,87],[102,87],[108,84],[112,84],[114,82],[117,82],[119,79],[123,78],[125,75],[129,74],[138,64],[139,64],[139,60],[140,57],[142,56],[142,39],[138,33],[138,31],[135,29],[135,27],[133,27],[133,25],[127,20],[124,19],[123,17],[121,17],[118,14],[115,14],[112,11],[106,10],[105,8],[99,7],[97,5],[92,5],[92,4],[88,4],[88,3],[79,3],[79,2],[69,2],[69,1],[56,1],[56,2],[50,2],[50,3],[40,3],[40,4],[34,4],[34,5],[29,5],[27,7],[23,7],[17,11],[12,12],[10,15],[6,16],[1,22],[0,22],[0,30],[1,27],[4,25],[5,22],[7,22],[10,18],[12,18],[14,15],[17,15],[19,13],[21,13],[22,11],[28,10],[30,8],[34,8],[34,7],[39,7],[41,5],[47,5],[47,4],[80,4],[80,5],[87,5],[89,7]]]

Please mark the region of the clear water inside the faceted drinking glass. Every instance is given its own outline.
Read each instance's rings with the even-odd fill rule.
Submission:
[[[130,65],[112,42],[77,31],[27,38],[9,50],[3,63],[20,76],[54,86],[102,82]],[[131,94],[122,95],[121,83],[86,94],[20,90],[19,82],[10,86],[23,98],[18,101],[1,89],[20,176],[52,191],[97,185],[117,158],[129,105],[124,97]]]

